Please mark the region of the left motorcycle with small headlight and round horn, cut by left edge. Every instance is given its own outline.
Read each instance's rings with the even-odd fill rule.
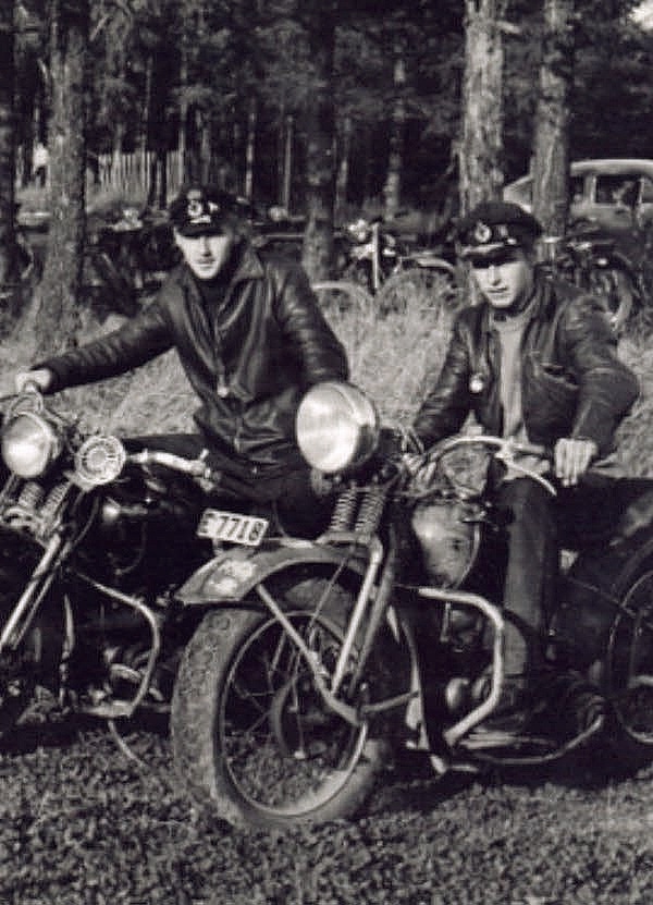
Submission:
[[[276,524],[202,455],[128,447],[34,387],[5,407],[0,738],[39,686],[119,736],[136,713],[167,718],[181,651],[206,612],[177,589],[219,537],[251,543]],[[234,494],[238,512],[214,507]]]

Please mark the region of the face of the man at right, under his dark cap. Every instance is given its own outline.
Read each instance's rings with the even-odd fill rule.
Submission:
[[[519,309],[533,286],[533,262],[521,248],[502,248],[469,258],[479,290],[493,308]]]

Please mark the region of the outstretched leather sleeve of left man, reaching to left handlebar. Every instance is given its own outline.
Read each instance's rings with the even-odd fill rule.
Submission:
[[[168,319],[153,302],[118,330],[78,348],[34,365],[54,375],[49,392],[93,383],[136,368],[172,346]]]

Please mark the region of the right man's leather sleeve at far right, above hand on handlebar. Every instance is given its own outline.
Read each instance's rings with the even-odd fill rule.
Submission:
[[[617,357],[609,325],[591,296],[579,296],[568,306],[563,337],[563,355],[578,382],[571,437],[593,440],[599,454],[606,455],[639,395],[638,379]]]

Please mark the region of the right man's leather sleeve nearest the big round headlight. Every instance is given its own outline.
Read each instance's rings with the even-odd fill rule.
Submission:
[[[457,316],[440,377],[414,420],[415,432],[427,447],[460,430],[471,408],[468,311]]]

